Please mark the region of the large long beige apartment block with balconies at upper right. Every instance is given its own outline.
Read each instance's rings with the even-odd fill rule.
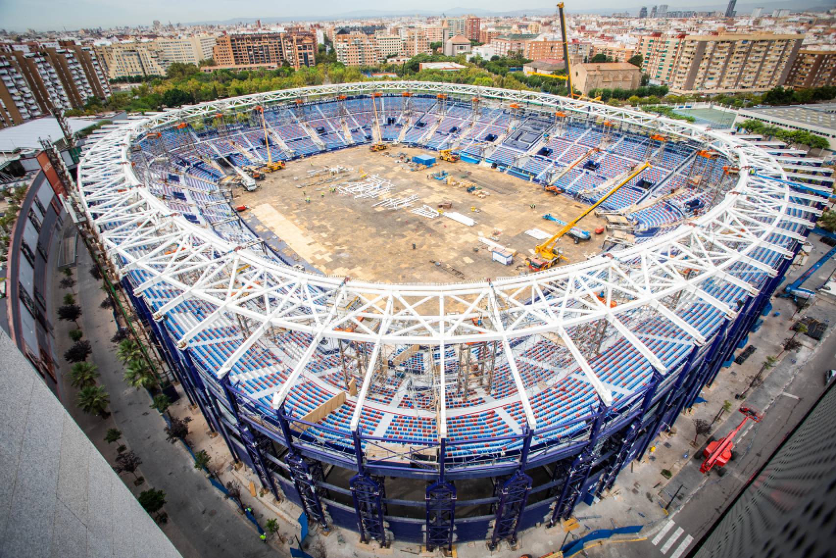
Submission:
[[[762,92],[784,84],[801,49],[798,34],[662,35],[640,38],[642,69],[671,92]]]

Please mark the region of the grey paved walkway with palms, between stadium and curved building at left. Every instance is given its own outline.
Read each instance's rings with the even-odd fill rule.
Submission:
[[[115,322],[110,310],[100,307],[104,293],[100,289],[101,282],[95,281],[88,273],[92,264],[89,253],[79,249],[76,291],[79,305],[84,310],[79,323],[85,338],[93,346],[90,361],[99,366],[99,383],[110,394],[112,415],[106,421],[84,415],[74,406],[73,393],[65,403],[79,426],[110,463],[115,457],[115,444],[109,446],[104,443],[104,433],[111,426],[121,430],[124,443],[143,460],[141,474],[145,476],[145,484],[135,489],[130,482],[131,476],[126,475],[124,478],[129,488],[135,494],[151,487],[166,493],[164,510],[169,520],[162,525],[162,529],[186,558],[287,555],[258,539],[255,527],[238,512],[236,504],[223,499],[205,475],[193,467],[191,456],[181,444],[166,442],[163,432],[165,422],[158,412],[149,407],[147,392],[127,387],[122,381],[122,365],[116,360],[115,346],[110,343],[110,337],[115,333]],[[55,276],[58,280],[59,274]],[[59,294],[63,295],[63,292]],[[59,322],[56,327],[59,354],[63,353],[65,345],[69,345],[66,333],[69,327],[64,328],[65,325],[65,322]],[[69,369],[65,365],[62,362],[62,367]],[[191,423],[193,432],[200,425],[205,428],[205,422],[199,418],[195,417],[195,422]],[[201,434],[195,433],[198,436]]]

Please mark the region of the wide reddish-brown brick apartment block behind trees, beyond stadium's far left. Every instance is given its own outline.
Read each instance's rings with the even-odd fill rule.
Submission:
[[[216,39],[215,64],[225,67],[281,65],[293,68],[316,64],[316,36],[307,31],[233,33]]]

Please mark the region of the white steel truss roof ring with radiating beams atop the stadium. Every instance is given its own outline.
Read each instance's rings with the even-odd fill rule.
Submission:
[[[619,121],[634,129],[711,145],[742,171],[732,191],[705,214],[634,247],[602,253],[577,264],[491,281],[385,284],[311,274],[228,242],[172,211],[143,187],[130,164],[130,145],[166,125],[298,98],[329,99],[375,92],[400,95],[406,91],[526,103],[548,111]],[[704,343],[701,332],[670,310],[665,301],[686,296],[733,317],[737,309],[706,292],[706,282],[729,284],[757,294],[736,274],[740,266],[774,276],[772,267],[753,254],[765,251],[776,259],[791,255],[785,245],[803,236],[783,226],[813,226],[808,219],[794,216],[793,210],[818,212],[797,204],[793,198],[820,201],[791,190],[786,172],[766,151],[725,133],[584,100],[466,84],[363,82],[247,95],[136,117],[106,127],[97,137],[99,140],[79,163],[79,202],[110,263],[123,276],[139,272],[142,279],[135,288],[137,295],[157,285],[179,293],[155,311],[156,320],[186,300],[200,300],[215,307],[186,330],[179,339],[180,348],[189,346],[196,335],[222,316],[238,315],[248,323],[252,321],[254,329],[245,333],[242,345],[217,371],[222,376],[268,330],[283,328],[312,335],[287,381],[273,394],[273,406],[278,407],[303,374],[320,341],[369,344],[371,357],[351,417],[353,430],[359,425],[375,366],[387,345],[421,344],[441,350],[438,424],[442,437],[446,434],[445,350],[463,343],[497,341],[502,346],[532,429],[537,427],[537,420],[512,351],[512,341],[521,337],[558,335],[600,401],[609,407],[612,387],[601,381],[589,365],[569,333],[573,327],[605,320],[651,366],[665,374],[665,364],[624,325],[625,318],[644,308],[654,310],[695,344]],[[192,279],[185,280],[186,274]],[[350,308],[347,301],[352,301]]]

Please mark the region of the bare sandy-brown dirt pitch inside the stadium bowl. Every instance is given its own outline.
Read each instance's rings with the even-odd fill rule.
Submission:
[[[390,283],[449,283],[519,274],[525,259],[539,242],[525,234],[530,228],[553,234],[558,224],[543,214],[569,221],[585,207],[568,197],[544,192],[543,187],[463,161],[438,160],[430,169],[410,171],[397,154],[436,156],[434,152],[403,146],[373,153],[368,146],[352,147],[291,161],[286,169],[268,174],[256,192],[237,192],[236,203],[249,207],[247,221],[265,237],[275,234],[283,251],[296,261],[306,261],[326,274]],[[351,169],[333,182],[308,178],[308,171],[324,166]],[[392,210],[372,207],[377,198],[354,198],[334,192],[344,182],[356,180],[360,171],[389,180],[394,190],[384,197],[418,196],[411,207]],[[429,177],[447,171],[454,180],[472,182],[478,189],[467,193]],[[462,177],[467,172],[470,175]],[[478,197],[478,192],[487,192]],[[309,200],[309,201],[306,201]],[[438,207],[451,202],[449,211],[475,219],[468,227],[451,218],[426,218],[411,212],[423,204]],[[531,207],[534,204],[535,207]],[[245,213],[245,214],[246,214]],[[589,214],[579,223],[592,232],[604,224]],[[480,237],[496,238],[516,250],[512,265],[492,261],[492,253]],[[569,262],[599,253],[603,235],[574,244],[568,237],[558,245]],[[413,247],[414,245],[414,247]]]

